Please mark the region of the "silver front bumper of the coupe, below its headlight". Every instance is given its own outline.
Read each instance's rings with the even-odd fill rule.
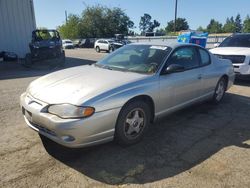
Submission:
[[[120,108],[96,112],[89,118],[62,119],[47,113],[48,104],[27,93],[20,97],[24,119],[29,127],[66,147],[78,148],[113,140]]]

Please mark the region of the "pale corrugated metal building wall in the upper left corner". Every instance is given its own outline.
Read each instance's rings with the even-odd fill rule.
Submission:
[[[0,51],[25,57],[35,28],[33,0],[0,0]]]

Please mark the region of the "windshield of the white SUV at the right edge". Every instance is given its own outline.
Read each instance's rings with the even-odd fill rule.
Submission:
[[[227,37],[219,47],[247,47],[250,48],[250,35],[234,35]]]

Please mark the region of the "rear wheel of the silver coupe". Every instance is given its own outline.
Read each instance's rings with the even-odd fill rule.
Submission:
[[[212,98],[212,102],[214,104],[219,104],[222,101],[225,95],[226,89],[227,89],[227,80],[226,78],[222,77],[218,81],[216,88],[214,90],[214,95]]]

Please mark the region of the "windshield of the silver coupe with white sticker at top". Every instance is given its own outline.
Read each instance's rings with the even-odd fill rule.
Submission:
[[[154,74],[171,48],[152,45],[126,45],[95,65],[110,70]]]

